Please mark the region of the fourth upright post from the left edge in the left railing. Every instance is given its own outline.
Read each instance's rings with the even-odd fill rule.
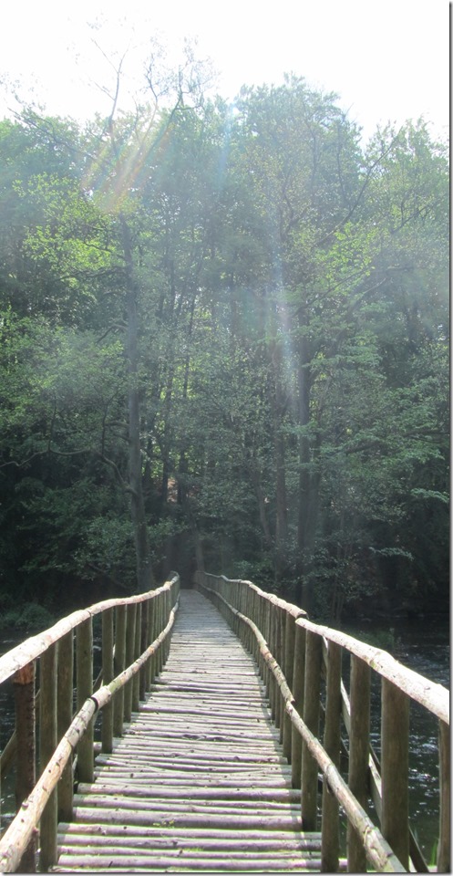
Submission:
[[[77,627],[77,711],[93,693],[93,620]],[[94,725],[90,722],[77,746],[77,777],[91,783],[94,775]]]

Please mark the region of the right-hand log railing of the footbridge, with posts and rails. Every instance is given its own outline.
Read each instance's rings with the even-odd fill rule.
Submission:
[[[250,581],[196,574],[258,662],[293,787],[302,787],[305,830],[322,831],[322,869],[339,867],[339,819],[347,819],[348,871],[428,872],[409,824],[409,704],[438,720],[438,872],[449,871],[449,694],[379,648],[312,623],[305,612]],[[349,694],[342,658],[350,662]],[[370,745],[371,676],[381,686],[380,763]],[[344,743],[346,735],[346,745]],[[347,767],[342,767],[347,760]],[[369,814],[373,804],[375,816]]]

